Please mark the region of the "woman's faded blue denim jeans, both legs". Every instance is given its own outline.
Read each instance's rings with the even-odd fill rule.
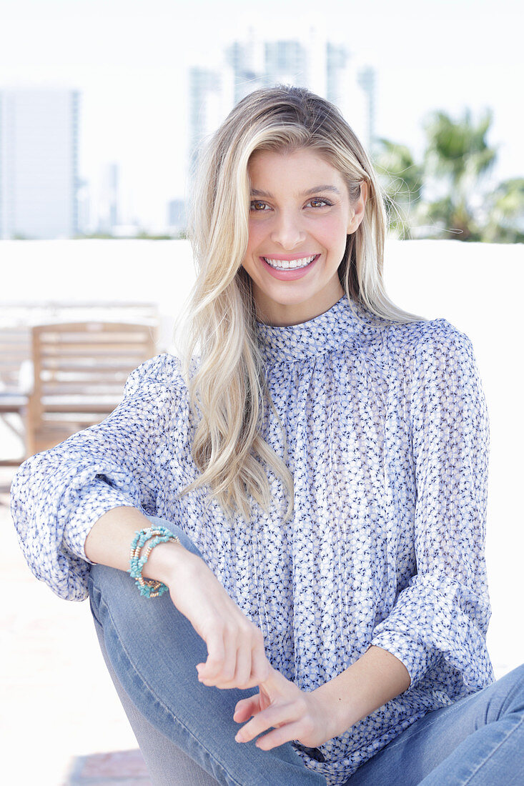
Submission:
[[[196,547],[175,524],[186,549]],[[102,654],[154,786],[295,786],[325,780],[291,744],[238,744],[234,706],[249,691],[209,688],[196,664],[207,652],[168,593],[148,599],[126,572],[91,567],[91,611]],[[524,667],[426,714],[349,778],[347,786],[524,784]]]

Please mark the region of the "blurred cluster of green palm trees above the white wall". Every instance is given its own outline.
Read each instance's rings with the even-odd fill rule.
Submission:
[[[426,151],[417,163],[406,145],[377,142],[374,156],[386,197],[389,230],[397,237],[524,242],[524,178],[482,182],[496,160],[487,134],[492,113],[477,123],[466,110],[454,120],[434,112],[426,123]]]

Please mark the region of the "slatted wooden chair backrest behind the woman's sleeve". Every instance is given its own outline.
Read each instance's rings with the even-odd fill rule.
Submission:
[[[152,325],[87,321],[33,327],[28,455],[113,412],[129,373],[156,354],[156,341]]]

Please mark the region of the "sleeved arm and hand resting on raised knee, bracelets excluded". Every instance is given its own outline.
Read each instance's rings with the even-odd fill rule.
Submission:
[[[186,428],[185,385],[178,360],[158,355],[131,373],[123,401],[105,421],[20,467],[11,497],[20,545],[33,573],[60,597],[87,597],[89,563],[128,570],[133,536],[156,512],[159,454],[171,423]],[[164,543],[143,575],[168,585],[176,608],[204,639],[202,681],[249,688],[267,678],[260,630],[204,560]]]

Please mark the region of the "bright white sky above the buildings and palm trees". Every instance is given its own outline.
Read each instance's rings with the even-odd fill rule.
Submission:
[[[417,150],[427,112],[491,107],[496,175],[515,177],[524,174],[521,8],[518,0],[0,0],[0,88],[80,90],[80,174],[94,186],[105,163],[120,163],[127,209],[155,222],[184,194],[190,66],[216,65],[249,28],[275,40],[314,27],[377,69],[380,136]]]

